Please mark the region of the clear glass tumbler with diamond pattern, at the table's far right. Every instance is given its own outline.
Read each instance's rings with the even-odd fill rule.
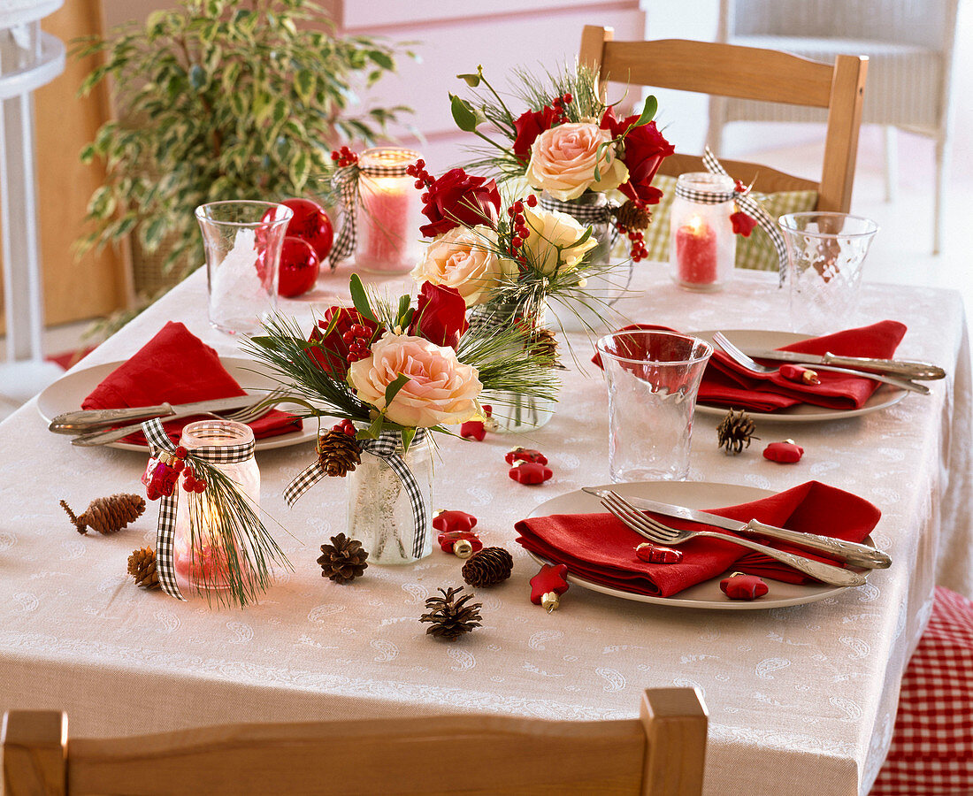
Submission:
[[[823,335],[853,326],[862,265],[879,225],[818,212],[788,213],[777,223],[787,243],[792,331]]]

